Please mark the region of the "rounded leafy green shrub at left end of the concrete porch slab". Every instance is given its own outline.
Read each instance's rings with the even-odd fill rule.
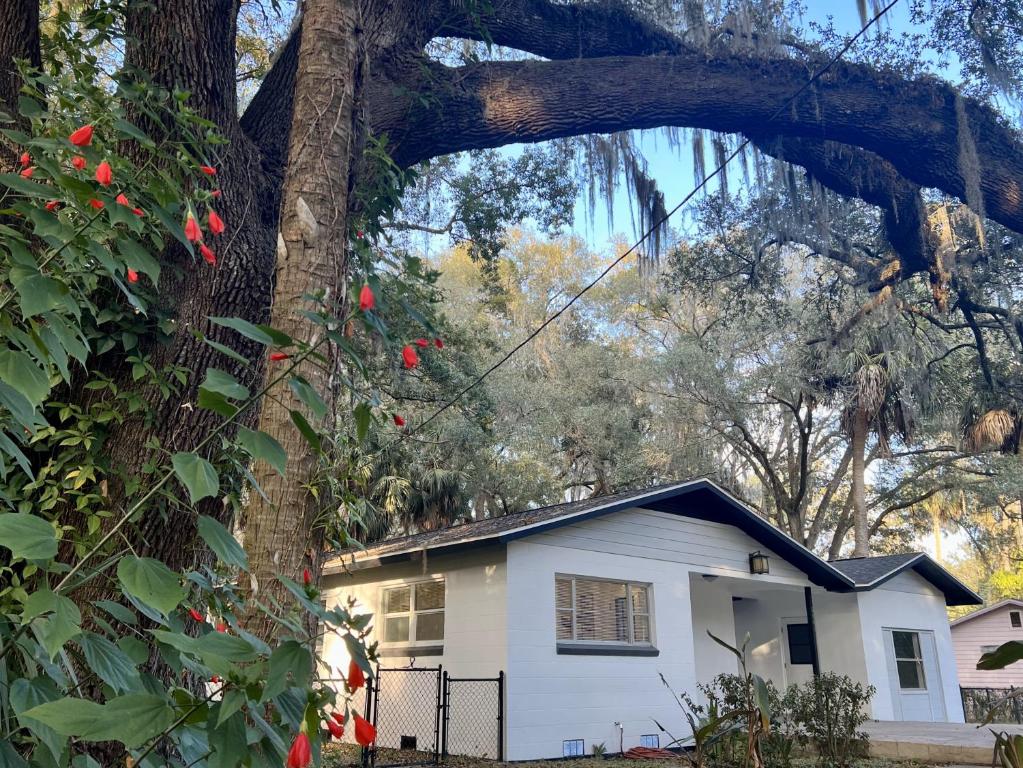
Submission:
[[[845,675],[826,672],[790,686],[782,709],[816,748],[820,762],[844,768],[851,759],[866,755],[868,738],[860,726],[866,722],[866,704],[875,692],[873,685],[864,687]]]

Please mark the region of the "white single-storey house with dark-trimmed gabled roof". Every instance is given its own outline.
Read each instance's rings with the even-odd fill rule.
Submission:
[[[659,674],[697,695],[736,672],[708,631],[749,634],[780,687],[818,668],[876,686],[876,719],[962,722],[945,606],[981,602],[923,554],[829,563],[707,480],[392,539],[324,574],[328,604],[374,614],[385,667],[505,673],[508,760],[656,743],[654,719],[684,732]],[[345,669],[340,639],[324,654]]]

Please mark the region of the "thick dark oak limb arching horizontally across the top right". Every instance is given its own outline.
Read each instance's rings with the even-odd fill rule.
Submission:
[[[404,165],[462,149],[688,126],[858,146],[915,184],[966,197],[957,94],[937,81],[839,64],[775,115],[809,77],[799,61],[685,53],[424,70],[419,87],[379,82],[370,96],[373,129],[393,138]],[[421,98],[428,92],[433,98]],[[988,107],[967,100],[964,109],[986,213],[1023,231],[1023,147]]]

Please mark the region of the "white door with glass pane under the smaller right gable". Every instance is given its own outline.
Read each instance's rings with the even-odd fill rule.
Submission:
[[[944,722],[934,633],[916,629],[886,629],[885,656],[896,720]]]

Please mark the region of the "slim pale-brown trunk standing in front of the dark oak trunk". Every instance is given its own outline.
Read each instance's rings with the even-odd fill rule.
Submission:
[[[270,323],[309,345],[322,341],[324,328],[300,314],[321,309],[306,297],[322,296],[336,316],[347,308],[348,209],[360,143],[357,102],[364,54],[359,21],[356,0],[308,0],[305,5]],[[283,601],[277,574],[298,580],[303,568],[317,576],[320,570],[323,500],[310,492],[319,482],[320,463],[291,415],[292,410],[303,411],[316,427],[332,423],[337,353],[329,344],[319,352],[327,365],[307,358],[295,373],[323,398],[325,418],[313,418],[286,380],[262,402],[260,430],[287,452],[284,477],[257,463],[255,478],[266,498],[252,494],[246,509],[246,548],[264,598]],[[248,625],[266,640],[275,632],[273,623],[258,613],[250,614]]]

